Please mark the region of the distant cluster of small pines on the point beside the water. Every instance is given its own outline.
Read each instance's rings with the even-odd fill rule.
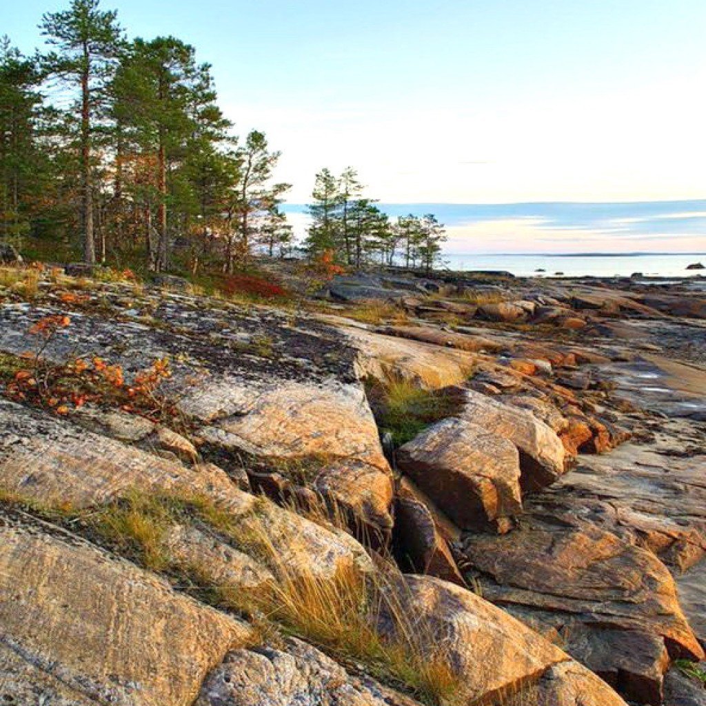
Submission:
[[[305,246],[310,255],[328,251],[353,268],[375,263],[431,270],[446,239],[443,225],[431,213],[390,220],[375,200],[363,196],[352,167],[338,177],[330,169],[318,172],[308,210]]]

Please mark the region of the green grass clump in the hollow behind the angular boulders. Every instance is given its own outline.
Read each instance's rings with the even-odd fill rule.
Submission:
[[[460,406],[453,390],[425,390],[401,378],[369,383],[368,397],[381,435],[390,433],[395,446],[412,441],[435,421],[453,416]]]

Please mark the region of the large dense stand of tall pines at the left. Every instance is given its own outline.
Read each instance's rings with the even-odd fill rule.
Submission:
[[[176,37],[128,40],[115,11],[73,0],[40,23],[49,50],[0,41],[0,237],[71,241],[86,263],[140,252],[150,270],[224,271],[292,245],[265,135],[232,135],[211,67]]]

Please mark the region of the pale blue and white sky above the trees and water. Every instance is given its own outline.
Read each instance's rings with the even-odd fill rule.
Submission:
[[[30,51],[42,13],[68,0],[11,13],[0,2],[0,32]],[[705,0],[103,4],[129,35],[174,34],[213,64],[237,131],[261,129],[282,150],[277,178],[293,185],[292,204],[308,201],[321,167],[349,164],[370,196],[405,213],[706,198]],[[630,249],[705,251],[706,208],[692,207],[652,213],[667,216],[659,232],[651,224]],[[493,251],[502,237],[513,250],[516,228],[514,250],[537,250],[549,225],[552,249],[580,250],[577,229],[607,249],[628,225],[640,235],[640,208],[618,217],[633,221],[607,232],[573,221],[558,237],[532,213],[479,220],[469,208],[452,235],[455,249]]]

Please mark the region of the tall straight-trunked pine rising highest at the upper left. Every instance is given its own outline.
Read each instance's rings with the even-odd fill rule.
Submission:
[[[73,112],[78,115],[83,256],[93,264],[93,152],[106,98],[104,89],[114,71],[122,30],[116,12],[102,11],[99,0],[73,0],[68,10],[45,14],[40,29],[47,43],[56,47],[44,57],[48,73],[78,92]]]

